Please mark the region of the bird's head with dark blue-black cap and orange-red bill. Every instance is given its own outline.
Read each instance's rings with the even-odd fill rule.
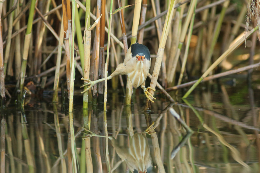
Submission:
[[[131,45],[132,57],[136,57],[136,61],[144,62],[146,60],[150,61],[150,51],[143,44],[134,43]]]

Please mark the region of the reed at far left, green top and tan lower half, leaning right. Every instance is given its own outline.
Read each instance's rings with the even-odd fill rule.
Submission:
[[[32,0],[32,2],[31,2],[28,23],[27,23],[27,30],[26,30],[26,35],[24,38],[23,60],[22,60],[21,79],[20,79],[21,80],[20,81],[20,96],[21,97],[23,94],[23,84],[24,84],[24,77],[25,77],[25,73],[26,73],[27,58],[28,58],[29,45],[30,45],[30,39],[31,39],[35,2],[36,2],[36,0]]]

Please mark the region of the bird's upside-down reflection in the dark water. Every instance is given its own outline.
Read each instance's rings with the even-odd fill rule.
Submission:
[[[151,126],[154,125],[154,123],[151,124]],[[152,133],[149,133],[151,130],[149,126],[144,132],[142,133],[134,133],[134,135],[130,138],[130,144],[129,148],[127,147],[119,147],[119,144],[117,143],[116,139],[114,137],[109,136],[108,138],[112,142],[112,146],[115,148],[116,153],[118,156],[126,161],[127,166],[129,167],[130,171],[134,172],[134,170],[137,170],[138,173],[147,173],[147,168],[152,166],[152,158],[150,155],[150,148],[148,145],[148,140],[146,138],[146,133],[151,135]],[[84,128],[85,129],[85,128]],[[88,136],[84,137],[105,137],[98,135],[96,133],[93,133],[90,130],[85,129],[88,133],[86,133]],[[155,132],[154,132],[155,133]]]

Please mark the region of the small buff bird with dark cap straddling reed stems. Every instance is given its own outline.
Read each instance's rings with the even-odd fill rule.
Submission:
[[[116,70],[108,76],[107,80],[112,79],[114,76],[118,74],[126,74],[134,88],[137,88],[141,86],[141,88],[144,90],[145,96],[151,101],[154,102],[149,95],[153,97],[149,92],[148,89],[151,89],[155,91],[155,88],[151,88],[150,86],[148,88],[145,88],[145,80],[148,76],[149,69],[151,67],[151,55],[148,47],[146,47],[143,44],[134,43],[131,45],[131,47],[127,50],[126,57],[124,59],[124,62],[119,64],[116,67]],[[96,81],[91,81],[89,79],[81,78],[81,80],[88,81],[87,84],[82,85],[80,88],[89,85],[87,89],[85,89],[83,92],[87,92],[93,85],[97,84],[98,82],[105,81],[105,78],[98,79]]]

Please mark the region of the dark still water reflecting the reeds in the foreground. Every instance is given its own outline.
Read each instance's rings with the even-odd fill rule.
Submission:
[[[175,98],[179,102],[174,104],[156,92],[156,102],[148,115],[157,126],[160,157],[166,172],[259,172],[259,82],[256,80],[248,85],[243,78],[233,86],[232,81],[232,78],[226,78],[212,84],[201,84],[187,102],[180,99],[186,90],[179,90]],[[171,95],[174,96],[175,92]],[[121,91],[108,93],[108,133],[117,137],[121,147],[130,142],[127,134],[131,125],[134,133],[147,128],[143,112],[146,98],[142,90],[135,91],[131,106],[125,106],[124,99]],[[52,95],[44,92],[42,95],[27,95],[22,114],[20,106],[11,100],[6,110],[1,112],[1,151],[5,143],[5,172],[62,172],[59,151],[65,152],[64,165],[68,171],[67,107],[67,104],[59,102],[55,111]],[[169,112],[169,107],[175,109],[194,131],[174,159],[170,159],[171,152],[186,135],[186,130]],[[84,155],[81,152],[84,147],[81,127],[84,121],[79,92],[75,92],[73,113],[77,159],[82,171],[81,156]],[[91,131],[105,135],[103,98],[90,102],[87,113]],[[148,172],[158,172],[151,136],[146,137],[153,165]],[[113,149],[109,140],[111,167],[118,164],[113,172],[126,172],[125,161],[121,163],[119,154]],[[91,138],[91,155],[93,172],[107,172],[105,138]]]

